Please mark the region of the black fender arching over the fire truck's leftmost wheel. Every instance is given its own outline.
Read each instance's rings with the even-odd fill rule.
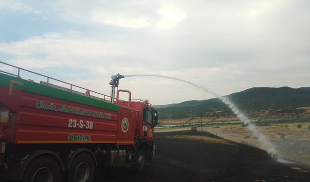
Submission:
[[[52,156],[60,165],[61,170],[64,170],[62,160],[56,152],[51,150],[33,150],[23,154],[14,154],[8,162],[8,170],[5,172],[5,178],[21,181],[27,166],[33,159],[41,155]]]

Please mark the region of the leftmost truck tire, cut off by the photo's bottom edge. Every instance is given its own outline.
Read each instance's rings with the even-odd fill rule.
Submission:
[[[60,168],[51,157],[42,156],[34,159],[27,166],[22,182],[60,182]]]

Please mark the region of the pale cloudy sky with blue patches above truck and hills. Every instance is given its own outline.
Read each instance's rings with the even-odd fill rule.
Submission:
[[[310,86],[309,7],[309,0],[0,0],[0,61],[107,95],[117,73],[177,77],[218,95]],[[214,97],[155,77],[125,78],[120,88],[153,104]]]

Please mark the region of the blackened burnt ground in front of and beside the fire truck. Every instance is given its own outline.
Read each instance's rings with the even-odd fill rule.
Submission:
[[[310,167],[209,132],[156,132],[154,161],[140,175],[119,168],[94,182],[310,182]],[[103,180],[105,179],[105,180]]]

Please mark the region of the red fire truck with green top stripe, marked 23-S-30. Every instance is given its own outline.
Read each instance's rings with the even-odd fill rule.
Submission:
[[[92,182],[96,167],[126,165],[140,172],[152,160],[157,111],[148,101],[131,99],[127,90],[114,97],[124,76],[112,76],[107,96],[0,65],[17,72],[0,68],[0,178]],[[47,80],[25,80],[21,72]],[[119,99],[120,92],[129,95],[127,101]]]

